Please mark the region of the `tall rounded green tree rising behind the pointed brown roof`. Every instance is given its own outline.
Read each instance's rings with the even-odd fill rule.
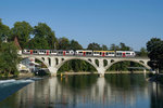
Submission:
[[[21,48],[25,49],[32,33],[33,27],[27,22],[16,22],[14,27],[11,28],[10,40],[13,41],[17,37]]]

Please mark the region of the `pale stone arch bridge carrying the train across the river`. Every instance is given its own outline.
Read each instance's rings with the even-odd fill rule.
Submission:
[[[138,63],[145,66],[147,69],[151,69],[148,66],[149,58],[140,58],[140,57],[95,57],[95,56],[53,56],[53,55],[21,55],[23,58],[33,58],[42,62],[47,68],[49,69],[52,76],[55,76],[59,68],[66,62],[72,59],[82,59],[86,60],[90,65],[92,65],[98,73],[104,76],[104,72],[108,68],[110,68],[113,64],[124,60],[129,60],[134,63]],[[97,64],[98,63],[98,64]]]

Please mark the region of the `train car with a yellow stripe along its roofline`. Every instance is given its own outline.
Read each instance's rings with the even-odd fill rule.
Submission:
[[[93,56],[115,56],[114,51],[93,51]]]

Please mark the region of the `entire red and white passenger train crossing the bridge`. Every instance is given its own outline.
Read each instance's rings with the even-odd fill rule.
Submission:
[[[105,57],[135,57],[134,51],[91,51],[91,50],[23,50],[23,54],[62,55],[62,56],[105,56]]]

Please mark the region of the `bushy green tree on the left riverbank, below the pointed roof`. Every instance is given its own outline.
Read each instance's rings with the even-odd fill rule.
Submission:
[[[17,49],[14,43],[2,43],[0,49],[0,72],[8,75],[17,73],[17,64],[20,63],[20,57],[17,55]]]

